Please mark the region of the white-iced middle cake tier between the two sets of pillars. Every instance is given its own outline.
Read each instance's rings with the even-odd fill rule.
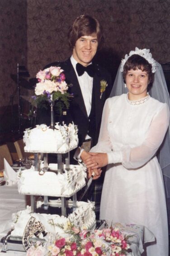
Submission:
[[[56,164],[49,166],[57,169]],[[85,186],[86,167],[70,165],[70,169],[64,169],[64,171],[65,173],[62,174],[47,171],[43,175],[39,175],[38,171],[34,171],[33,166],[28,170],[20,171],[18,191],[21,194],[71,197]]]

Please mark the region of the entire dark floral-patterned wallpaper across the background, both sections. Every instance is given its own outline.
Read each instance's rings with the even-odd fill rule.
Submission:
[[[46,64],[70,56],[67,33],[82,14],[102,24],[104,49],[96,60],[113,76],[135,46],[150,48],[161,64],[170,62],[170,0],[0,0],[0,106],[9,104],[16,88],[10,74],[18,62],[34,77]]]

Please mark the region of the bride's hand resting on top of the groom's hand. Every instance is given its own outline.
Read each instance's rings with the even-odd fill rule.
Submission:
[[[90,153],[90,157],[85,159],[87,168],[101,168],[108,164],[107,153]]]

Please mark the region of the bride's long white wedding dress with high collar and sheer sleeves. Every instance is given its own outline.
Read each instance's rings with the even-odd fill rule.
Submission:
[[[156,236],[147,256],[168,256],[168,223],[161,168],[156,158],[169,124],[169,109],[149,95],[129,101],[108,98],[99,142],[91,152],[108,153],[100,219],[144,225]],[[147,244],[146,244],[147,245]]]

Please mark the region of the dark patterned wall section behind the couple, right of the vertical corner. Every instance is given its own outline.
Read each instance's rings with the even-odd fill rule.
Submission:
[[[161,64],[170,61],[170,0],[27,0],[27,4],[32,76],[47,63],[70,56],[67,33],[82,14],[102,24],[106,50],[99,60],[111,71],[136,46],[151,49]]]

